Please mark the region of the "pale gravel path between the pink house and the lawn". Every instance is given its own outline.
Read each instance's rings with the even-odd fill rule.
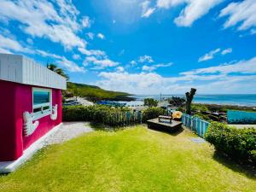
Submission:
[[[45,145],[56,144],[56,143],[63,143],[66,142],[74,137],[79,137],[79,135],[94,131],[89,123],[85,122],[68,122],[63,123],[61,128],[53,133],[46,141]]]

